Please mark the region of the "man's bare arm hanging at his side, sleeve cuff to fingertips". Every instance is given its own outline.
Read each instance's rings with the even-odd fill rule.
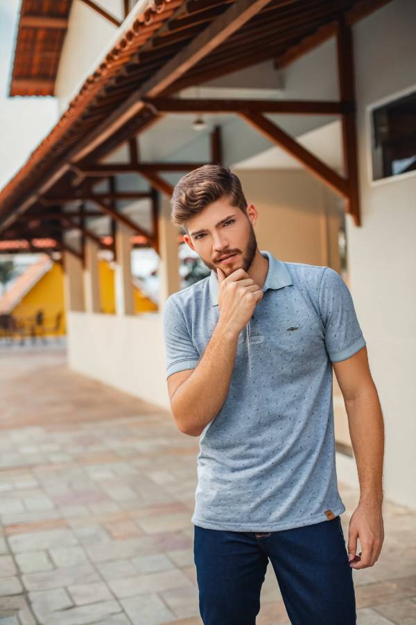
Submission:
[[[354,569],[372,567],[384,540],[383,453],[384,423],[379,395],[370,373],[367,348],[340,362],[333,369],[343,393],[349,434],[356,458],[360,500],[349,522],[348,554]],[[361,553],[356,556],[357,538]],[[360,557],[361,556],[361,557]]]

